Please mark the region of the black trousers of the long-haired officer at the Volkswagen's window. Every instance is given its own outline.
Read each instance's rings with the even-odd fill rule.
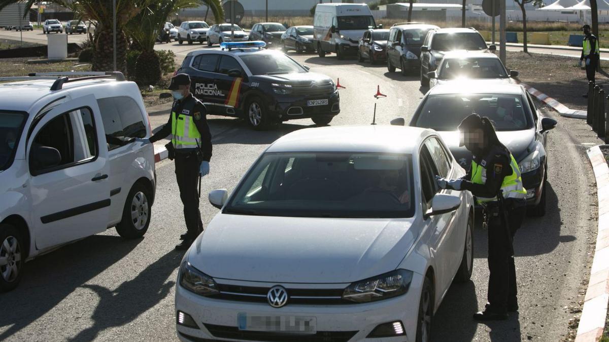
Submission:
[[[516,267],[512,254],[512,239],[523,223],[526,206],[523,202],[506,201],[507,226],[499,210],[486,209],[488,215],[488,302],[493,312],[506,312],[509,305],[518,304]],[[511,237],[511,239],[510,239]]]

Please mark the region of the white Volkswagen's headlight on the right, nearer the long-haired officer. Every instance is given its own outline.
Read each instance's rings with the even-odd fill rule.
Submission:
[[[365,303],[393,298],[408,291],[412,271],[395,270],[380,276],[354,282],[343,291],[343,299]]]

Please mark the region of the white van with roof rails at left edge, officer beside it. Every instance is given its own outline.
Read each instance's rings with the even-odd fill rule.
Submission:
[[[120,72],[72,75],[0,77],[0,292],[26,260],[114,226],[135,239],[150,223],[154,148],[136,141],[150,136],[138,86]]]

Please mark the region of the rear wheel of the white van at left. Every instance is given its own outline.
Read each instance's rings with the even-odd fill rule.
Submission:
[[[143,237],[150,225],[152,195],[141,183],[135,183],[127,195],[122,210],[122,220],[116,225],[116,232],[125,239]]]

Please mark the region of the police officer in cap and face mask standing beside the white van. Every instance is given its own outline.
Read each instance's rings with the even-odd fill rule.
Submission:
[[[183,241],[175,246],[177,250],[186,250],[203,231],[197,180],[209,173],[212,149],[205,105],[192,96],[190,83],[187,74],[177,74],[171,79],[169,90],[175,99],[171,115],[167,124],[150,137],[150,142],[155,142],[171,134],[169,153],[175,159],[175,178],[188,230],[181,236]]]

